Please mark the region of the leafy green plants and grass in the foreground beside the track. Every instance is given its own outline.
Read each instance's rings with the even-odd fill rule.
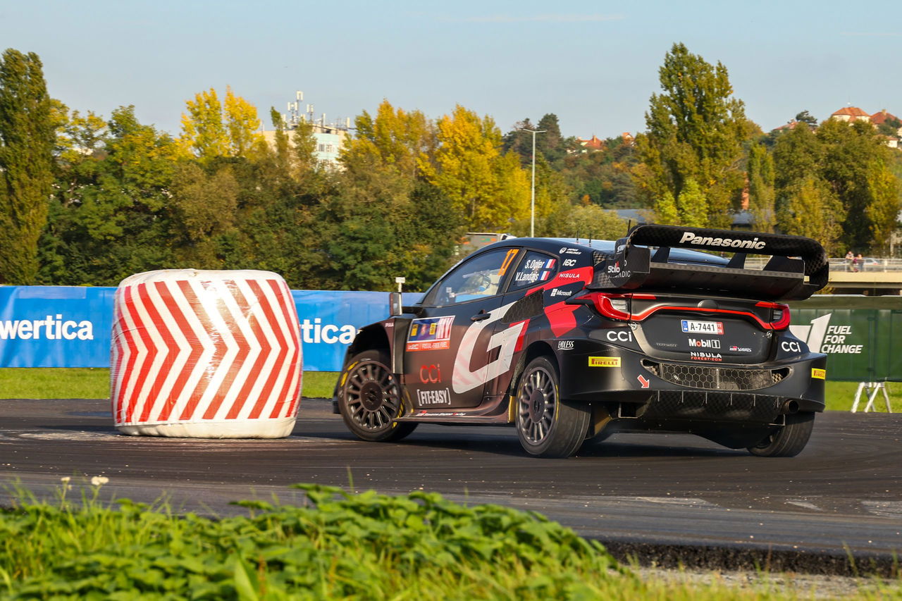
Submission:
[[[67,486],[68,484],[64,484]],[[600,598],[640,586],[603,549],[537,513],[296,485],[307,506],[241,502],[244,516],[174,515],[66,491],[0,510],[8,598]]]

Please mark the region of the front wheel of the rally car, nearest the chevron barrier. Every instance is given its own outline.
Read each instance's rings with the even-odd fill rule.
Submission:
[[[385,352],[368,350],[355,355],[341,375],[338,411],[358,439],[400,440],[417,427],[416,423],[394,421],[403,413],[404,402],[389,365]]]

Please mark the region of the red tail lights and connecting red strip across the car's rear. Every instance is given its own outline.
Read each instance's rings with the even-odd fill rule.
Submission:
[[[654,294],[612,294],[608,292],[589,291],[585,294],[575,297],[568,303],[592,304],[603,317],[608,319],[617,319],[618,321],[642,321],[649,318],[652,314],[661,310],[669,311],[698,311],[702,313],[725,313],[728,315],[740,315],[742,317],[751,318],[756,321],[763,329],[786,329],[789,327],[789,306],[780,302],[761,301],[755,304],[770,310],[770,319],[765,321],[751,311],[732,310],[732,309],[709,309],[706,307],[680,307],[678,305],[657,305],[649,307],[640,313],[633,313],[630,310],[630,301],[654,301],[657,297]]]

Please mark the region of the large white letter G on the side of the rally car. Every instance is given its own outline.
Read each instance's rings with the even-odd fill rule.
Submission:
[[[454,362],[454,373],[451,375],[451,387],[455,393],[466,393],[478,386],[482,386],[486,382],[497,378],[499,375],[511,369],[511,361],[513,360],[514,351],[517,349],[517,340],[526,328],[526,321],[512,324],[510,328],[502,329],[492,334],[489,338],[489,344],[485,353],[488,356],[492,349],[498,348],[498,358],[489,362],[476,371],[470,371],[470,358],[476,354],[476,340],[483,332],[483,329],[489,324],[502,319],[504,314],[511,309],[514,303],[509,303],[498,309],[489,311],[487,319],[475,321],[473,325],[466,328],[464,337],[461,338],[460,346],[457,347],[457,356]]]

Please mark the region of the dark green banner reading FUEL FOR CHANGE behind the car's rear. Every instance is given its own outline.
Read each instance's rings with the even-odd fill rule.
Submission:
[[[902,381],[902,297],[817,295],[791,303],[792,333],[827,355],[827,379]]]

